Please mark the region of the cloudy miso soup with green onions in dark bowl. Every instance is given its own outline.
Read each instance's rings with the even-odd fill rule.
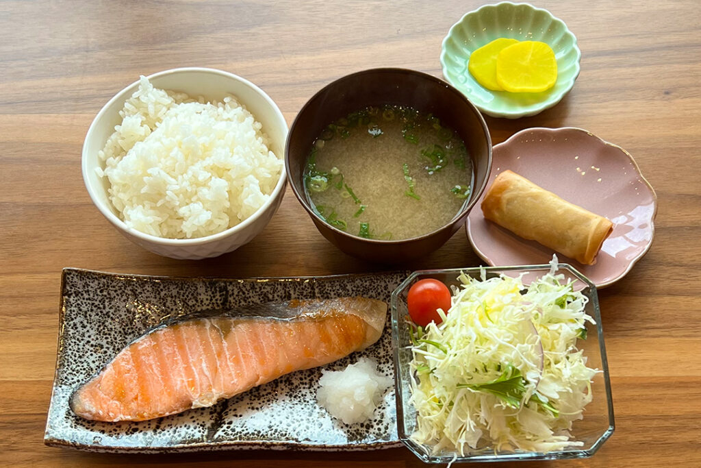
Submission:
[[[458,134],[410,107],[367,107],[329,124],[304,173],[313,209],[330,225],[397,240],[446,225],[472,190]]]

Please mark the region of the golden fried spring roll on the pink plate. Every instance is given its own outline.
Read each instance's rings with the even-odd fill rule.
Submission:
[[[499,174],[482,201],[484,218],[585,265],[593,265],[613,223],[512,171]]]

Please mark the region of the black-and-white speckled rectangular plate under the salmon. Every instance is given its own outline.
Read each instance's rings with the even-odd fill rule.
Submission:
[[[60,333],[44,443],[99,452],[162,453],[225,449],[366,450],[400,446],[394,389],[375,418],[346,425],[316,403],[321,369],[280,377],[211,408],[144,422],[93,422],[74,415],[68,399],[125,345],[170,316],[294,298],[362,295],[389,304],[409,272],[307,278],[201,279],[92,272],[67,268]],[[390,314],[379,342],[324,366],[339,370],[369,356],[394,379]]]

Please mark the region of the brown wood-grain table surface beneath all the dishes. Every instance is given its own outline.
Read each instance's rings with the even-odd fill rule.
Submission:
[[[201,261],[148,253],[91,203],[83,136],[139,74],[198,65],[245,76],[288,123],[330,81],[360,69],[442,76],[440,43],[480,2],[4,1],[0,4],[0,465],[419,466],[408,450],[100,455],[43,446],[63,267],[178,276],[378,271],[316,231],[290,189],[273,221],[236,252]],[[573,91],[518,120],[491,119],[494,143],[531,126],[578,126],[627,149],[655,187],[650,252],[600,293],[616,429],[590,460],[550,466],[701,464],[701,9],[696,0],[543,0],[583,52]],[[465,232],[407,265],[481,261]],[[496,465],[494,465],[496,466]],[[519,466],[532,466],[522,464]]]

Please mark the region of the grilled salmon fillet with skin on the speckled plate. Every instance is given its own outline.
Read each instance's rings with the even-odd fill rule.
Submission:
[[[365,297],[291,300],[158,326],[76,389],[70,407],[97,421],[143,421],[221,399],[365,349],[387,305]]]

